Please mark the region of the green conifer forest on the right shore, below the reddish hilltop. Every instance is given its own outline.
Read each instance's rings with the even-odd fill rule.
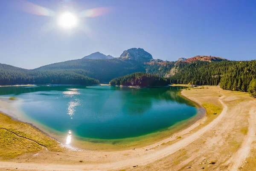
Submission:
[[[224,90],[247,92],[256,78],[256,60],[222,62],[178,62],[177,73],[170,77],[174,84],[218,85]]]

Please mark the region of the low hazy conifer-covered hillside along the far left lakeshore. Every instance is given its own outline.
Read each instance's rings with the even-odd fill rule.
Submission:
[[[99,84],[99,80],[89,78],[72,70],[26,70],[11,65],[0,64],[0,85],[12,84]]]

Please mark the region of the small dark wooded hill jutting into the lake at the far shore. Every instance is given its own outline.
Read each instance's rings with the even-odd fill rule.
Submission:
[[[170,80],[154,74],[148,73],[132,73],[126,76],[114,78],[109,82],[112,86],[138,86],[138,87],[154,87],[154,86],[166,86],[170,83]]]

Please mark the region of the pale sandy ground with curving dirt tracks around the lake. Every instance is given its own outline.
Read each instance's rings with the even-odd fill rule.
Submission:
[[[247,93],[198,87],[182,95],[207,115],[165,140],[123,151],[61,151],[45,148],[2,159],[0,168],[18,170],[252,170],[256,146],[256,99]],[[0,106],[4,104],[0,104]],[[1,124],[1,123],[0,123]],[[24,137],[26,138],[26,137]],[[248,161],[247,161],[248,160]],[[209,164],[214,162],[214,164]],[[135,167],[134,167],[135,166]]]

